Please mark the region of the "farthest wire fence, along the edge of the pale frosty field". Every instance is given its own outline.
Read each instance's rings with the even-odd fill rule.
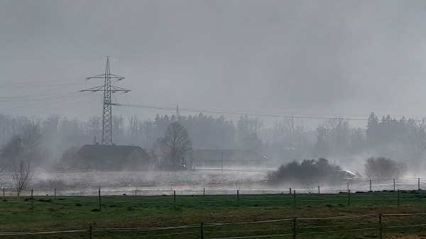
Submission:
[[[307,180],[309,181],[309,180]],[[53,183],[54,184],[54,183]],[[241,183],[246,185],[245,183]],[[356,191],[396,191],[400,190],[420,190],[426,189],[425,178],[402,178],[402,179],[346,179],[334,183],[310,182],[309,184],[300,184],[287,187],[271,186],[263,184],[264,187],[258,187],[259,184],[254,184],[253,187],[235,187],[238,184],[231,185],[187,185],[174,187],[110,187],[102,188],[104,195],[138,195],[138,196],[155,196],[155,195],[173,195],[173,191],[182,195],[224,195],[234,194],[239,190],[240,194],[278,194],[292,193],[297,191],[307,194],[337,194],[351,190]],[[3,196],[16,195],[16,189],[13,186],[3,187]],[[91,196],[97,195],[97,189],[94,188],[68,188],[68,187],[43,187],[34,188],[33,193],[36,196]],[[21,192],[22,195],[30,195],[31,189],[26,189]],[[0,191],[1,195],[1,191]]]

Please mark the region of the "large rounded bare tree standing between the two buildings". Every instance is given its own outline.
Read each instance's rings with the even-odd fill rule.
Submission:
[[[192,141],[185,127],[179,122],[170,123],[165,130],[163,145],[168,150],[170,168],[185,169],[183,155],[192,149]]]

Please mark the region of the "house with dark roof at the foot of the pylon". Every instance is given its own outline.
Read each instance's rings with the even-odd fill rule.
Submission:
[[[78,151],[78,165],[103,171],[144,171],[151,157],[141,147],[127,145],[84,145]]]

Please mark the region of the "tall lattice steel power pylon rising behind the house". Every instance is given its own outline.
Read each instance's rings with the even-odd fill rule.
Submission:
[[[109,70],[109,57],[107,56],[107,67],[105,67],[105,74],[98,74],[94,77],[87,77],[86,79],[105,79],[104,85],[101,87],[93,87],[90,89],[83,89],[82,91],[104,91],[104,115],[102,116],[102,145],[112,145],[112,111],[111,106],[119,105],[111,102],[111,94],[116,92],[127,93],[130,89],[123,89],[120,87],[114,87],[112,84],[119,82],[124,77],[120,77],[116,74],[111,74]],[[111,83],[111,79],[115,82]]]

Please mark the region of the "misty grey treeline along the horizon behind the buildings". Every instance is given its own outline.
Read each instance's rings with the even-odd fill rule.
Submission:
[[[315,130],[307,130],[300,118],[284,117],[271,127],[258,118],[241,116],[233,122],[224,116],[157,115],[153,120],[138,116],[113,116],[113,142],[153,148],[163,138],[170,123],[179,121],[187,129],[194,149],[247,149],[273,160],[300,158],[351,158],[352,155],[385,156],[394,160],[420,163],[426,149],[426,120],[400,119],[374,113],[366,128],[354,128],[344,118],[322,121]],[[12,117],[0,114],[0,145],[13,135],[21,135],[28,124],[40,133],[40,145],[58,155],[67,148],[102,140],[102,117],[87,121],[58,115],[48,118]]]

